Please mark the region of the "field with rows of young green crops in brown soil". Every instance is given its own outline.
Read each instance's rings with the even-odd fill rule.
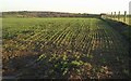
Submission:
[[[118,79],[128,42],[99,18],[3,18],[3,77]]]

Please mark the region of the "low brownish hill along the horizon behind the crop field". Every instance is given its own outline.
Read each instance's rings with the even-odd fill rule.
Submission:
[[[62,13],[62,12],[2,12],[2,17],[93,17],[99,16],[96,14],[87,13]]]

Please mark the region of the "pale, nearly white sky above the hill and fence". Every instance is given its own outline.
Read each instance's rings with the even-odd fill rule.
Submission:
[[[129,12],[131,0],[0,0],[0,11],[53,11],[70,13]]]

